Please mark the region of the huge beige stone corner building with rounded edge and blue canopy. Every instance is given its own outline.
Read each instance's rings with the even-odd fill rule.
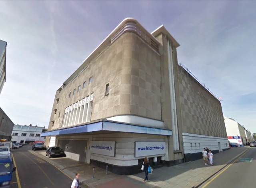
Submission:
[[[102,168],[108,164],[116,174],[138,173],[146,156],[155,167],[180,164],[184,139],[192,137],[211,140],[214,150],[228,148],[220,102],[182,72],[178,46],[164,26],[149,33],[125,19],[56,91],[48,132],[42,133],[46,145],[62,146],[68,157]],[[104,148],[105,142],[114,143],[114,153],[92,152],[92,143]],[[145,150],[138,146],[142,142]],[[72,149],[75,143],[80,150]]]

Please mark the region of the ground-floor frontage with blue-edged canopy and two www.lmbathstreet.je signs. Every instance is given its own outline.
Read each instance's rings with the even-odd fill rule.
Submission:
[[[172,130],[103,120],[41,134],[55,137],[68,158],[128,175],[141,172],[145,157],[156,168],[165,164]]]

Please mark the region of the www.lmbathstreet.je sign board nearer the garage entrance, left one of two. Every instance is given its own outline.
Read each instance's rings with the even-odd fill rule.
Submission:
[[[114,157],[116,155],[116,142],[91,141],[90,152]]]

